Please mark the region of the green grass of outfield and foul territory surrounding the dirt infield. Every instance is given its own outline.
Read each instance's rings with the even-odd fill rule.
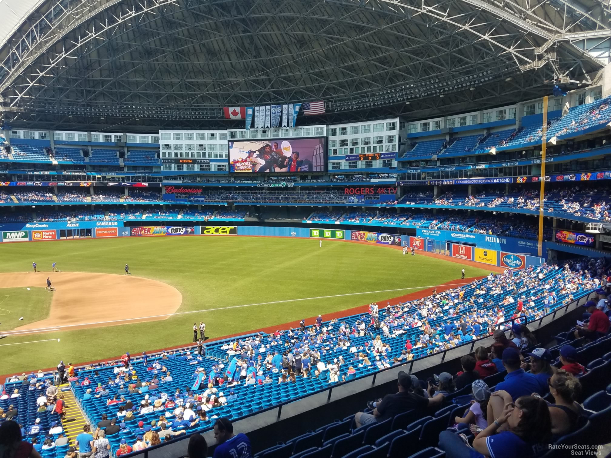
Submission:
[[[319,248],[317,239],[258,237],[4,243],[0,244],[0,256],[2,272],[28,271],[34,261],[40,271],[51,271],[56,261],[62,271],[122,274],[128,263],[133,275],[175,286],[183,295],[179,312],[214,309],[164,321],[9,336],[0,340],[0,374],[53,367],[59,360],[86,362],[125,351],[186,344],[192,340],[194,321],[205,322],[206,335],[213,338],[318,313],[324,316],[454,280],[460,277],[463,267],[426,256],[403,256],[401,250],[379,245],[323,241]],[[466,271],[467,277],[488,274],[485,269],[473,267]],[[0,288],[0,295],[13,294],[7,291]],[[83,294],[85,298],[86,291]],[[40,305],[32,305],[32,297],[34,294],[23,298],[24,315],[32,307],[42,313],[44,301],[49,300],[41,297]],[[317,299],[295,300],[304,298]],[[288,302],[269,304],[276,301]],[[248,306],[236,307],[240,305]],[[4,327],[4,319],[0,321],[2,329],[9,329]],[[57,338],[59,343],[7,345]]]

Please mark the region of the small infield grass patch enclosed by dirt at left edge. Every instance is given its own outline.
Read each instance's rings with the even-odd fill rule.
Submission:
[[[0,288],[1,329],[15,329],[47,318],[52,297],[45,288]]]

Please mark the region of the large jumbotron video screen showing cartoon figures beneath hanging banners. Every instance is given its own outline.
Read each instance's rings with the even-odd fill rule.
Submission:
[[[236,173],[324,172],[326,137],[229,142],[229,170]]]

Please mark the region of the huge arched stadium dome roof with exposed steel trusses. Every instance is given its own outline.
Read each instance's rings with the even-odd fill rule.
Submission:
[[[599,0],[0,0],[12,125],[228,128],[223,106],[324,100],[313,123],[486,109],[591,84]],[[4,36],[2,36],[4,35]]]

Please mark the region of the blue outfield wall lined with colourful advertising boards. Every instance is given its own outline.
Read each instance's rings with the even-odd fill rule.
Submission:
[[[314,239],[342,239],[377,245],[409,247],[506,269],[538,266],[544,258],[533,256],[536,242],[493,235],[417,229],[415,236],[332,227],[269,227],[232,225],[221,222],[189,222],[185,225],[125,226],[123,221],[35,222],[2,225],[0,240],[8,242],[49,241],[81,238],[175,237],[175,236],[262,236]],[[156,225],[157,224],[157,225]],[[534,245],[534,247],[532,246]],[[544,253],[546,248],[544,246]]]

